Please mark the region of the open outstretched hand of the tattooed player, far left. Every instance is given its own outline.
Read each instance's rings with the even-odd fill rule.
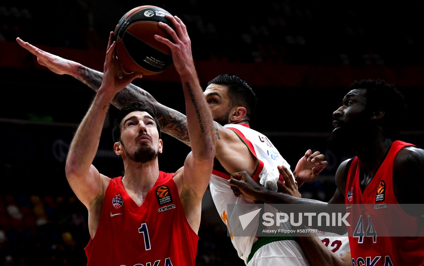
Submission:
[[[71,75],[73,71],[76,71],[76,68],[78,67],[78,63],[67,60],[64,58],[61,58],[60,56],[50,54],[48,52],[43,51],[42,49],[39,49],[32,44],[29,44],[28,42],[22,41],[21,38],[16,38],[16,41],[20,46],[27,49],[28,52],[31,52],[33,55],[37,57],[37,62],[42,65],[46,66],[48,69],[53,71],[56,74],[63,75],[63,74],[69,74]]]

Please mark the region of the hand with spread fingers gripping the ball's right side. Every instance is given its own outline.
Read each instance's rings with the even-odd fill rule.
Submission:
[[[166,14],[165,17],[172,23],[173,28],[169,25],[159,22],[159,27],[167,31],[174,42],[155,35],[155,39],[162,44],[167,45],[172,53],[172,60],[177,72],[182,75],[194,71],[194,61],[191,53],[191,41],[187,33],[187,27],[177,16]]]

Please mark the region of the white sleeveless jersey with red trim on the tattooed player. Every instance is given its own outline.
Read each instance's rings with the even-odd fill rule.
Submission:
[[[224,127],[234,131],[257,158],[257,169],[252,178],[262,186],[277,191],[277,181],[279,179],[277,165],[284,165],[287,169],[290,169],[290,165],[281,156],[268,137],[250,129],[247,124],[227,124]],[[234,196],[232,189],[229,184],[227,184],[228,178],[228,172],[224,172],[223,169],[214,169],[212,171],[209,186],[216,209],[228,228],[234,248],[237,250],[239,257],[246,263],[252,245],[257,241],[257,237],[254,235],[243,237],[232,236],[232,232],[236,225],[232,227],[229,222],[231,219],[227,217],[227,204],[253,204],[254,202],[245,197]]]

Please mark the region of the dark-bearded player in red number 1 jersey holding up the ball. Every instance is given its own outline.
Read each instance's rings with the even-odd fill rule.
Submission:
[[[203,97],[191,55],[190,39],[177,17],[165,30],[186,100],[192,151],[174,174],[159,171],[159,122],[150,107],[131,103],[118,113],[114,152],[122,156],[125,176],[108,178],[91,164],[109,104],[137,74],[124,74],[109,37],[104,78],[71,143],[66,176],[89,212],[89,266],[195,265],[201,199],[209,184],[215,154],[212,115]]]

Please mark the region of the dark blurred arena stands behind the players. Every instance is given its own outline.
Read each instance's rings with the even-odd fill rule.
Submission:
[[[139,5],[157,5],[187,25],[202,85],[228,73],[254,88],[259,101],[251,127],[267,135],[292,167],[308,148],[326,155],[329,166],[301,188],[303,197],[331,198],[335,170],[351,156],[327,150],[326,139],[332,112],[354,80],[396,85],[409,106],[400,139],[424,147],[422,2],[2,1],[0,266],[85,265],[89,240],[87,211],[66,181],[64,163],[94,92],[39,66],[16,37],[101,71],[108,33]],[[185,112],[172,67],[134,83]],[[108,176],[123,175],[112,151],[115,113],[111,107],[93,163]],[[174,172],[189,148],[167,135],[163,140],[160,169]],[[244,265],[208,192],[199,236],[197,265]]]

